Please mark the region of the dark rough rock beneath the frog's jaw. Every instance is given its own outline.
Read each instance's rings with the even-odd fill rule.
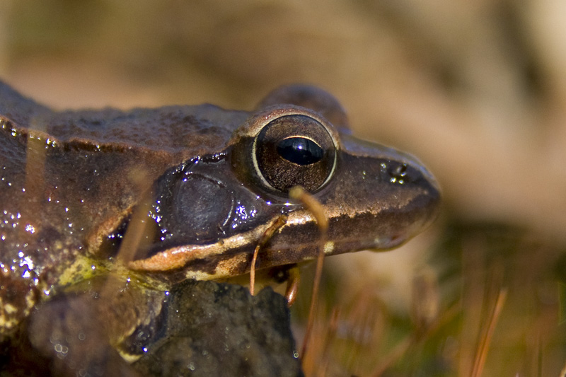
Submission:
[[[166,305],[166,332],[134,367],[152,376],[302,376],[289,310],[272,289],[184,282]]]

